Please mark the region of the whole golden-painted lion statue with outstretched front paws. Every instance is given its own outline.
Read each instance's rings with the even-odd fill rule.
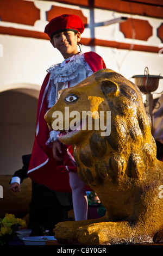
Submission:
[[[69,125],[74,120],[65,116],[65,107],[70,113],[80,113],[76,129],[67,131],[67,120]],[[64,118],[60,141],[73,145],[80,178],[106,209],[105,216],[96,220],[58,223],[54,229],[58,242],[110,245],[156,241],[163,229],[163,162],[156,159],[151,118],[139,88],[115,71],[102,69],[59,92],[58,101],[45,116],[51,129],[55,128],[55,111]],[[82,129],[83,111],[96,113],[92,114],[92,129]],[[106,112],[111,114],[110,132],[100,125],[97,129],[96,121],[100,123],[102,118],[97,112],[104,113],[104,127],[108,127]]]

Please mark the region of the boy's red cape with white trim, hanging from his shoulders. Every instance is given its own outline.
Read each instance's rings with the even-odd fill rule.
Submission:
[[[106,68],[104,60],[97,53],[87,52],[84,53],[84,57],[93,72]],[[37,105],[36,136],[28,176],[36,183],[45,185],[51,190],[71,192],[67,170],[58,170],[57,166],[63,166],[63,163],[56,161],[52,154],[52,148],[46,146],[46,141],[49,138],[49,129],[44,115],[47,111],[46,93],[50,83],[49,76],[50,74],[48,73],[40,90]],[[87,190],[89,190],[88,187]]]

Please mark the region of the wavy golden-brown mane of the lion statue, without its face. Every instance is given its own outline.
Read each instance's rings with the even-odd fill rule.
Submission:
[[[95,79],[101,84],[107,101],[105,109],[101,104],[98,111],[111,111],[111,134],[101,137],[100,131],[92,131],[92,135],[87,138],[89,141],[86,139],[85,146],[89,144],[90,150],[86,149],[87,146],[80,149],[80,161],[86,166],[85,170],[79,170],[80,176],[86,183],[89,180],[92,184],[103,182],[102,173],[109,175],[110,179],[119,179],[124,175],[140,178],[156,157],[151,117],[143,106],[140,90],[114,71],[105,74],[97,71]],[[118,95],[108,94],[108,81],[118,85]],[[96,161],[105,155],[107,159],[103,157],[102,161]],[[93,162],[96,162],[96,175],[89,170]],[[80,167],[79,162],[77,165]]]

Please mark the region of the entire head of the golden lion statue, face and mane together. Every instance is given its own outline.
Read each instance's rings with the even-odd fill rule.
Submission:
[[[83,112],[89,113],[92,129]],[[92,159],[93,167],[100,155],[110,176],[139,177],[156,157],[151,118],[140,90],[113,70],[99,70],[62,90],[45,119],[51,129],[59,126],[62,143],[80,149],[76,154],[80,166],[89,167]]]

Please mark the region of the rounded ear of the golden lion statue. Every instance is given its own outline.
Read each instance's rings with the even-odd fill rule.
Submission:
[[[115,82],[105,79],[101,82],[101,89],[105,95],[111,96],[118,91],[118,85]]]

